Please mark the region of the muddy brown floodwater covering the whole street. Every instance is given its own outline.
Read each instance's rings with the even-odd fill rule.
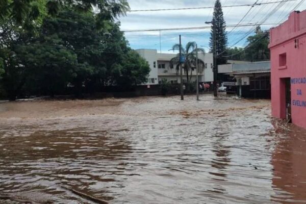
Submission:
[[[209,95],[1,103],[0,197],[306,203],[306,131],[270,109]]]

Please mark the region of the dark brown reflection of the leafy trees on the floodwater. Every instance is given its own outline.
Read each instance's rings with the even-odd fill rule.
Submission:
[[[124,158],[131,152],[130,143],[109,138],[104,131],[81,128],[6,137],[1,143],[5,148],[0,148],[0,191],[22,193],[34,201],[84,202],[64,188],[69,187],[111,200],[113,196],[105,196],[109,189],[122,188],[122,183],[112,183],[128,176],[129,163]],[[48,194],[57,196],[51,199]]]

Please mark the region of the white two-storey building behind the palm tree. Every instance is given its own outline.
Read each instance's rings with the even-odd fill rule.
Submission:
[[[151,71],[148,77],[148,85],[159,84],[163,79],[170,83],[181,83],[180,72],[175,66],[170,67],[170,60],[176,54],[157,53],[156,49],[137,49],[136,52],[143,57],[150,65]],[[213,55],[206,53],[198,55],[199,59],[205,63],[205,68],[199,73],[199,82],[214,81]],[[191,72],[189,72],[190,76]],[[186,73],[183,71],[183,82],[187,82]],[[191,81],[196,81],[196,71],[192,71]]]

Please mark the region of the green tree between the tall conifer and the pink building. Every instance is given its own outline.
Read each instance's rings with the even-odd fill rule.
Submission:
[[[248,45],[245,48],[247,61],[263,61],[270,59],[269,32],[259,32],[247,38]]]

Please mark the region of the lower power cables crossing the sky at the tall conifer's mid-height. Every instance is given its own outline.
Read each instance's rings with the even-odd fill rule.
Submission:
[[[262,23],[265,25],[273,25],[275,23]],[[262,25],[259,23],[244,23],[237,26],[237,24],[232,25],[226,25],[226,27],[248,27],[248,26],[254,26],[254,25]],[[143,29],[143,30],[125,30],[122,32],[150,32],[150,31],[176,31],[176,30],[201,30],[201,29],[211,29],[210,26],[202,26],[202,27],[185,27],[185,28],[168,28],[168,29]]]

